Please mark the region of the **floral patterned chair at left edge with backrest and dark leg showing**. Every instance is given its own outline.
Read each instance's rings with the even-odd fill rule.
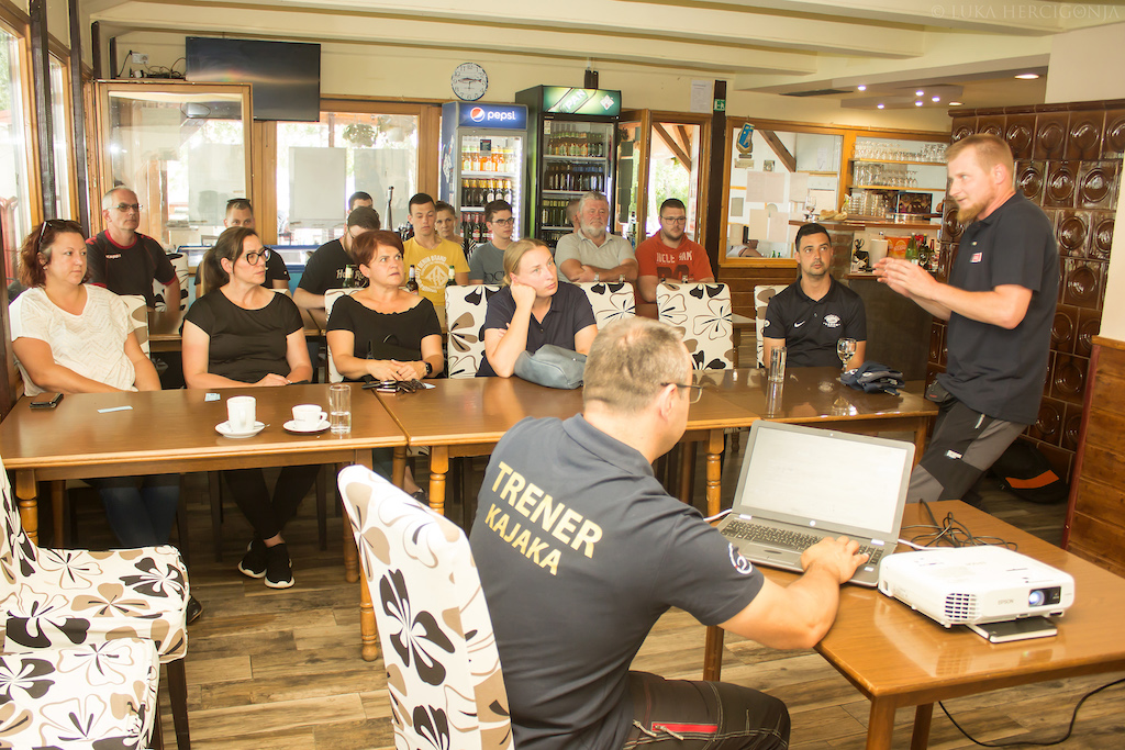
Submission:
[[[108,552],[39,549],[24,533],[2,464],[0,504],[2,651],[53,650],[120,638],[152,641],[160,661],[168,665],[177,744],[188,750],[183,669],[188,576],[180,553],[172,546]]]

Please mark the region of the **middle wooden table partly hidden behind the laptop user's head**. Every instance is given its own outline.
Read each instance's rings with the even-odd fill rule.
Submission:
[[[488,455],[504,433],[524,417],[566,419],[582,412],[580,389],[543,388],[520,378],[428,382],[435,387],[416,394],[379,394],[379,399],[406,434],[410,445],[430,449],[430,507],[442,514],[449,459]],[[709,505],[712,500],[719,503],[723,431],[748,426],[756,418],[755,414],[710,391],[692,404],[683,441],[706,443]],[[397,471],[396,466],[396,475]]]

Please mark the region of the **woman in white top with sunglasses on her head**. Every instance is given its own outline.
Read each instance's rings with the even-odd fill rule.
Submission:
[[[87,270],[86,235],[75,222],[44,222],[20,246],[19,277],[27,290],[11,302],[9,318],[25,392],[160,390],[156,368],[137,343],[125,301],[84,283]],[[168,543],[180,499],[179,477],[87,481],[101,496],[123,546]],[[188,621],[201,612],[192,599]]]

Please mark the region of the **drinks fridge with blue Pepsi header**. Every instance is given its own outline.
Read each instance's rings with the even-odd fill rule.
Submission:
[[[441,107],[441,199],[461,217],[466,254],[487,242],[485,205],[512,204],[513,237],[523,236],[521,220],[528,108],[451,101]]]

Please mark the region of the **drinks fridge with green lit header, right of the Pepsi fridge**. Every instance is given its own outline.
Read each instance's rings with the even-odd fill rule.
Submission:
[[[537,85],[515,94],[528,108],[525,235],[554,247],[574,231],[566,207],[597,190],[610,199],[621,92]]]

